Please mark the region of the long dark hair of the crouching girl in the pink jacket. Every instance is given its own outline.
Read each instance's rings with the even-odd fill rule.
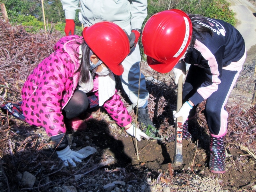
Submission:
[[[79,58],[81,54],[77,50],[74,50],[75,57],[81,60],[81,64],[75,73],[80,72],[79,81],[82,83],[87,83],[90,80],[90,51],[91,49],[87,46],[84,41],[82,44],[77,42],[78,45],[82,46],[82,57]]]

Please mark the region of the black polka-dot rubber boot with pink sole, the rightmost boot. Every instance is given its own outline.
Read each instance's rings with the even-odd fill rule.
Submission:
[[[225,173],[226,172],[226,153],[224,147],[224,137],[212,137],[210,138],[210,161],[209,170],[212,173]]]

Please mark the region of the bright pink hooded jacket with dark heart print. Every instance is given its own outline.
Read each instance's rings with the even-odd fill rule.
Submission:
[[[84,40],[77,35],[62,37],[54,46],[55,51],[33,70],[22,88],[21,108],[26,121],[44,127],[49,136],[66,132],[61,111],[73,96],[79,81],[79,72],[75,73],[80,66],[74,55],[74,50],[79,53],[76,41]],[[132,122],[117,91],[103,107],[119,126]]]

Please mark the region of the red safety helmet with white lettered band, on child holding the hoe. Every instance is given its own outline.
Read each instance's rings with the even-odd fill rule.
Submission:
[[[142,45],[148,65],[160,73],[168,73],[185,54],[192,36],[188,15],[178,9],[154,14],[142,31]]]

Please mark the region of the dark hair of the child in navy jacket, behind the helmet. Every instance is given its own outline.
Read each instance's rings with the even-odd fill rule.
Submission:
[[[209,23],[207,18],[204,17],[203,15],[198,15],[198,14],[188,15],[188,17],[190,18],[190,20],[192,22],[192,28],[193,28],[192,38],[191,38],[191,43],[190,43],[190,48],[189,48],[190,50],[192,50],[195,45],[196,39],[203,40],[206,33],[209,33],[210,35],[212,35],[213,33],[212,33],[212,30],[209,29],[208,27],[204,27],[199,24],[199,22]]]

